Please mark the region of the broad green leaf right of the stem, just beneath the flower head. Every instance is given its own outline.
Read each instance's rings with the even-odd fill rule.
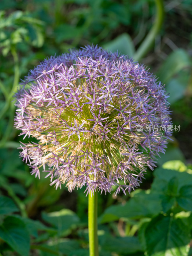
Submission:
[[[130,198],[124,205],[112,205],[99,217],[100,223],[106,223],[120,218],[139,219],[151,217],[161,212],[158,195],[146,194],[141,191]]]

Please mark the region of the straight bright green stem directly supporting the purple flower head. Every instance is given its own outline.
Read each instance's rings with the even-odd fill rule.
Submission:
[[[89,256],[99,256],[97,238],[97,192],[88,195]]]

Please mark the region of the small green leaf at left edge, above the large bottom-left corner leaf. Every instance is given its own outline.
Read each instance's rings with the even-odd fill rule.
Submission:
[[[13,203],[12,199],[6,196],[0,196],[0,214],[8,214],[18,212],[18,207]]]

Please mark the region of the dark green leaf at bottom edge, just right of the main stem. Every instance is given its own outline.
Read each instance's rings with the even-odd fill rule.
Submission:
[[[101,237],[100,246],[106,252],[115,252],[120,255],[130,255],[142,251],[137,237],[113,237],[104,235]]]

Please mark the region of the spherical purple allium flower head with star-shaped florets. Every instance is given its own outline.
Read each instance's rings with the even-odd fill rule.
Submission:
[[[94,45],[71,50],[44,60],[22,84],[15,126],[38,143],[21,143],[20,156],[35,176],[43,166],[56,189],[130,192],[165,152],[165,87],[124,55]]]

